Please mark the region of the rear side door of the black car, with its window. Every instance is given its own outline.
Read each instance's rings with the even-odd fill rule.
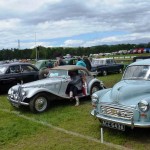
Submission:
[[[38,80],[38,70],[30,64],[21,65],[23,83]]]

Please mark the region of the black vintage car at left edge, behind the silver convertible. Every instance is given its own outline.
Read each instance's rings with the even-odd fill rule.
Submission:
[[[39,79],[39,70],[30,63],[0,64],[0,93],[6,92],[17,83],[27,83]]]

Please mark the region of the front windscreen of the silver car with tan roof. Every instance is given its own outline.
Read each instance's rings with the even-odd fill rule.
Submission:
[[[68,76],[68,71],[67,70],[55,70],[52,69],[50,70],[48,77],[65,77]]]

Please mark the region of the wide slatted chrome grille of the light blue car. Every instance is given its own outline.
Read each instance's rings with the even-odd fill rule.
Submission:
[[[131,120],[131,118],[133,117],[133,111],[130,110],[129,108],[128,109],[127,108],[120,109],[117,107],[102,105],[101,113],[104,115],[109,115],[112,117],[123,118],[123,119],[128,119],[128,120]]]

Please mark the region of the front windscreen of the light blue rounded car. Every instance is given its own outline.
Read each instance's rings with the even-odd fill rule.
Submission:
[[[150,66],[129,66],[123,76],[125,80],[150,80]]]

